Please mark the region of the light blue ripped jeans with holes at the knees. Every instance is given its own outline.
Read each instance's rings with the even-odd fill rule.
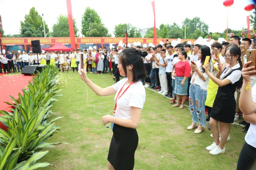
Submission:
[[[190,84],[189,88],[189,109],[192,115],[192,121],[199,123],[202,127],[206,125],[205,118],[205,101],[207,91],[203,91],[199,85]]]

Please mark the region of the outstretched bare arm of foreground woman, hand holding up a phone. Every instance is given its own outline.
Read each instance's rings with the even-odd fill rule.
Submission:
[[[85,68],[85,64],[84,64],[84,68]],[[91,89],[92,91],[94,91],[94,93],[96,93],[99,96],[109,96],[109,95],[113,95],[116,93],[116,90],[113,89],[112,86],[106,87],[106,88],[102,88],[98,85],[96,85],[95,83],[93,83],[90,79],[88,79],[86,72],[83,70],[80,70],[80,72],[82,73],[82,75],[80,75],[81,79],[84,81],[84,83],[86,83]]]

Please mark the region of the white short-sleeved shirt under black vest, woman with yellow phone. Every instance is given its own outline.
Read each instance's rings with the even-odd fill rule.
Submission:
[[[222,73],[221,73],[221,75],[220,75],[220,80],[222,80],[222,78],[223,78],[226,74],[228,74],[231,70],[239,68],[240,65],[239,65],[239,63],[238,63],[238,64],[234,65],[232,68],[230,68],[230,69],[227,71],[228,67],[229,67],[229,65],[226,66],[226,69],[224,68],[225,70],[223,69],[223,71],[222,71]],[[234,83],[236,83],[236,81],[238,81],[238,80],[241,78],[241,75],[242,75],[242,73],[241,73],[240,70],[235,70],[235,71],[233,71],[233,72],[232,72],[228,77],[226,77],[226,78],[229,79],[232,84],[234,84]]]

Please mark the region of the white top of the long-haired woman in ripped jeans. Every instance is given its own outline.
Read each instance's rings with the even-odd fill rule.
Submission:
[[[198,69],[199,69],[198,71],[201,71],[201,72],[202,72],[202,63],[201,63],[201,60],[196,61],[196,65],[197,65],[197,67],[198,67]],[[211,66],[211,68],[212,68],[212,66]],[[208,76],[206,73],[203,73],[203,75],[204,75],[205,81],[202,80],[202,79],[199,77],[198,73],[195,71],[194,74],[193,74],[192,77],[191,77],[190,83],[191,83],[191,84],[199,85],[200,88],[201,88],[203,91],[207,91],[210,78],[209,78],[209,76]]]

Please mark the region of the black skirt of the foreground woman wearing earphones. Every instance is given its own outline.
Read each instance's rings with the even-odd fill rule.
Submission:
[[[139,140],[137,130],[114,124],[113,133],[108,161],[115,170],[132,170]]]

